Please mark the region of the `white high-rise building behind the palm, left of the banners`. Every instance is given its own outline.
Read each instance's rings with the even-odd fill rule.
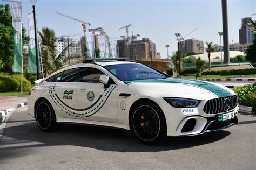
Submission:
[[[69,56],[72,54],[81,55],[81,45],[80,40],[73,39],[71,36],[61,36],[57,38],[55,45],[57,46],[57,55],[59,55],[66,47],[72,44],[66,51],[64,52],[65,56]]]

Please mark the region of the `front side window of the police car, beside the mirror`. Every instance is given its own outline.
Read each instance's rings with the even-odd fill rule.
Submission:
[[[100,83],[99,77],[104,73],[96,68],[84,67],[80,70],[80,82]]]

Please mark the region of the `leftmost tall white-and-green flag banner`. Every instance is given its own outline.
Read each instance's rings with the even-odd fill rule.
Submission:
[[[22,66],[22,5],[21,2],[11,2],[11,15],[14,38],[14,65],[12,71],[23,72]]]

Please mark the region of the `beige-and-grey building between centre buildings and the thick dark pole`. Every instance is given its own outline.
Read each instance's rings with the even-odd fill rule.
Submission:
[[[204,47],[204,41],[199,41],[194,38],[187,39],[185,41],[180,41],[179,43],[179,50],[180,50],[181,56],[185,55],[188,52],[204,53],[203,47]]]

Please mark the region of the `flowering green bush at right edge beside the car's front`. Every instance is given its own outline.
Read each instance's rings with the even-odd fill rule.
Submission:
[[[234,90],[238,102],[248,107],[256,107],[256,83],[245,85]]]

